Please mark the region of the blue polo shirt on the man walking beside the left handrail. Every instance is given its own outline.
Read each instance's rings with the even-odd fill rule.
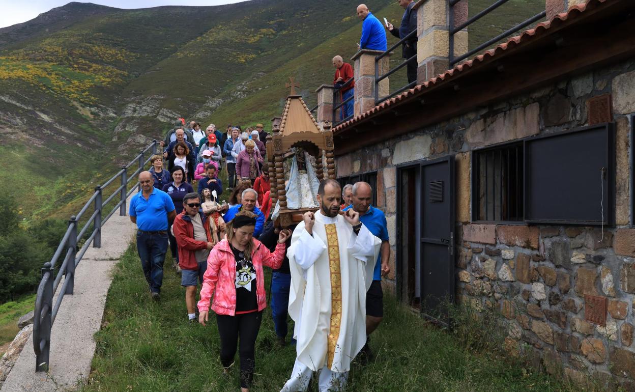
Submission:
[[[143,191],[130,199],[131,217],[137,217],[137,229],[143,231],[165,231],[168,229],[168,213],[174,211],[174,203],[167,193],[152,187],[146,200]]]

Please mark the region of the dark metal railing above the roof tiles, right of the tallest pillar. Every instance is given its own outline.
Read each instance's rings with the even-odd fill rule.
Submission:
[[[461,1],[461,0],[450,0],[449,1],[449,4],[450,4],[450,21],[449,21],[450,22],[450,39],[449,39],[450,48],[449,48],[448,57],[450,59],[450,67],[453,67],[458,62],[462,62],[466,58],[472,57],[476,53],[479,53],[480,51],[484,50],[485,48],[488,48],[488,46],[491,46],[492,44],[497,43],[498,41],[500,41],[501,39],[504,39],[505,37],[511,36],[512,34],[517,32],[518,30],[523,29],[523,28],[525,28],[525,27],[527,27],[527,26],[529,26],[529,25],[531,25],[531,24],[533,24],[535,22],[538,22],[538,20],[540,20],[540,19],[542,19],[542,18],[547,16],[547,12],[546,11],[542,11],[540,13],[537,13],[533,17],[526,19],[524,22],[521,22],[521,23],[515,25],[514,27],[512,27],[511,29],[508,29],[505,32],[502,32],[501,34],[498,34],[498,36],[495,36],[495,37],[493,37],[491,39],[488,39],[488,41],[486,41],[483,44],[480,44],[477,48],[474,48],[474,49],[472,49],[470,51],[467,51],[467,53],[465,53],[464,55],[460,55],[458,57],[454,57],[454,36],[455,36],[455,34],[460,32],[461,30],[467,28],[469,25],[474,24],[474,22],[476,22],[477,20],[485,17],[485,15],[488,15],[488,13],[491,13],[491,11],[496,10],[498,7],[500,7],[503,4],[507,3],[509,0],[498,0],[498,1],[495,1],[490,6],[485,8],[485,10],[480,11],[479,13],[474,15],[473,17],[471,17],[468,20],[466,20],[465,22],[463,22],[462,24],[458,25],[457,27],[454,27],[454,7],[459,1]]]

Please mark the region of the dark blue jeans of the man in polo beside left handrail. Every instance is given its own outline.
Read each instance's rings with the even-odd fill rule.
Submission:
[[[144,270],[151,292],[161,292],[163,283],[163,262],[165,253],[168,252],[168,234],[150,234],[137,231],[137,253],[141,259],[141,268]]]

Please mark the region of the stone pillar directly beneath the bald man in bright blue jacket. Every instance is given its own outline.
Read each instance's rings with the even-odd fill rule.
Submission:
[[[375,57],[381,55],[380,50],[363,49],[355,53],[351,58],[354,62],[355,72],[355,116],[370,111],[375,107]],[[388,72],[390,67],[390,55],[386,55],[379,61],[378,74]],[[379,97],[389,94],[389,78],[379,83]]]

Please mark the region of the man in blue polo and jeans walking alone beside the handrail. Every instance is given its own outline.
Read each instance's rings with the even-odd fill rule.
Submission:
[[[137,252],[150,295],[159,301],[163,283],[163,262],[168,252],[168,227],[177,217],[170,196],[154,187],[150,172],[139,174],[141,192],[130,199],[130,220],[137,224]]]

